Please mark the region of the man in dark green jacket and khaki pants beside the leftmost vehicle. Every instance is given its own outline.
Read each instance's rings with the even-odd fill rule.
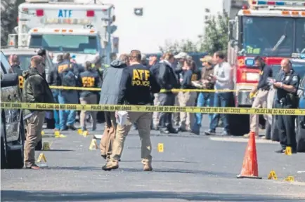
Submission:
[[[30,69],[22,72],[25,79],[22,90],[22,100],[32,103],[54,103],[53,93],[44,79],[42,57],[35,55],[31,58]],[[27,135],[25,137],[25,168],[39,169],[35,164],[35,147],[41,140],[41,130],[44,125],[45,112],[39,109],[25,109]]]

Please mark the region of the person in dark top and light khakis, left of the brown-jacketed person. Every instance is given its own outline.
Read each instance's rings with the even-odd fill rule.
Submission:
[[[183,77],[180,79],[182,89],[194,89],[192,81],[197,81],[195,74],[195,62],[191,59],[186,60],[183,66]],[[180,107],[193,107],[195,104],[197,93],[195,92],[179,92]],[[194,123],[194,114],[189,112],[180,113],[179,130],[192,131],[191,127]]]

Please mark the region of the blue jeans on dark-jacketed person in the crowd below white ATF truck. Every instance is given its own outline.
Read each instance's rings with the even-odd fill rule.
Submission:
[[[60,104],[71,104],[67,103],[66,95],[59,93],[58,94],[58,102]],[[60,118],[60,128],[65,129],[67,126],[73,126],[75,122],[75,110],[60,110],[59,118]]]

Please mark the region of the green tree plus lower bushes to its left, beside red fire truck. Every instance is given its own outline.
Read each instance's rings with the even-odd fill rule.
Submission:
[[[222,14],[212,15],[205,22],[205,34],[200,36],[198,41],[182,40],[169,43],[160,47],[160,51],[164,52],[186,52],[198,53],[207,52],[215,53],[222,50],[226,53],[228,48],[228,14],[223,11]]]

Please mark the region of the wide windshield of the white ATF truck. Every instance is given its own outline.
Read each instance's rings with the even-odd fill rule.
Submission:
[[[32,35],[30,48],[45,48],[52,52],[96,54],[96,36],[43,34]]]

